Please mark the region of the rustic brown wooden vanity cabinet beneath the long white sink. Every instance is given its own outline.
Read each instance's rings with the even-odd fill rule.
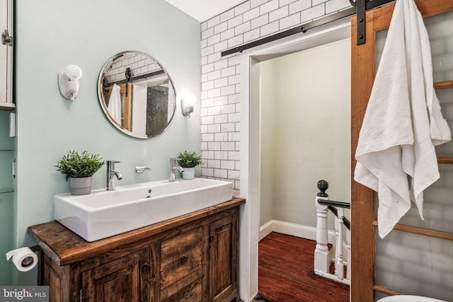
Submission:
[[[30,226],[50,301],[239,301],[239,206],[232,199],[93,243],[57,221]]]

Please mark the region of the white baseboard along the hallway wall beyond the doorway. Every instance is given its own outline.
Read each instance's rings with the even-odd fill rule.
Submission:
[[[296,236],[308,240],[316,240],[316,227],[304,226],[302,224],[270,220],[260,227],[259,240],[261,241],[265,236],[270,233],[282,233],[285,235]],[[328,230],[328,243],[333,244],[335,242],[335,231]]]

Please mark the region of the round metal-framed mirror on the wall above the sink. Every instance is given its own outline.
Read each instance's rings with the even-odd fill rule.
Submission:
[[[176,110],[173,82],[153,57],[120,52],[108,59],[98,79],[105,117],[122,133],[149,139],[164,132]]]

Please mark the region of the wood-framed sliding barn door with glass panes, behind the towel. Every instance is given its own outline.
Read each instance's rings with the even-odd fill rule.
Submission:
[[[430,35],[436,93],[453,130],[453,0],[415,3]],[[393,9],[394,4],[389,4],[367,12],[364,45],[356,45],[357,18],[352,18],[352,175],[360,127]],[[377,236],[376,196],[352,176],[352,302],[394,294],[453,301],[453,143],[437,147],[436,152],[440,180],[425,190],[425,220],[413,205],[383,240]]]

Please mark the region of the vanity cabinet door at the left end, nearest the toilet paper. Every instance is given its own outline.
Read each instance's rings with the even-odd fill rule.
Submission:
[[[149,249],[81,273],[81,301],[151,301]]]

